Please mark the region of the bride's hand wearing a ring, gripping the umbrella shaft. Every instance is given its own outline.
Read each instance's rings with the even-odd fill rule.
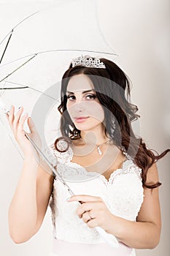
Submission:
[[[113,215],[101,197],[90,195],[74,195],[68,202],[79,201],[82,204],[77,208],[78,217],[88,224],[88,227],[102,227],[108,230],[112,225]]]

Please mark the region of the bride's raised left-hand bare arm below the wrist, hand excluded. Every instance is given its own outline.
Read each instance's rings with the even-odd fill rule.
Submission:
[[[9,206],[9,234],[15,243],[28,241],[39,230],[53,189],[53,176],[35,159],[25,160]]]

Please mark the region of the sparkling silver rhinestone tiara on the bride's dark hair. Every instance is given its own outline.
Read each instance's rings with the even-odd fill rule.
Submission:
[[[106,69],[104,63],[100,59],[93,58],[90,56],[80,56],[77,59],[72,59],[72,67],[95,67],[99,69]]]

